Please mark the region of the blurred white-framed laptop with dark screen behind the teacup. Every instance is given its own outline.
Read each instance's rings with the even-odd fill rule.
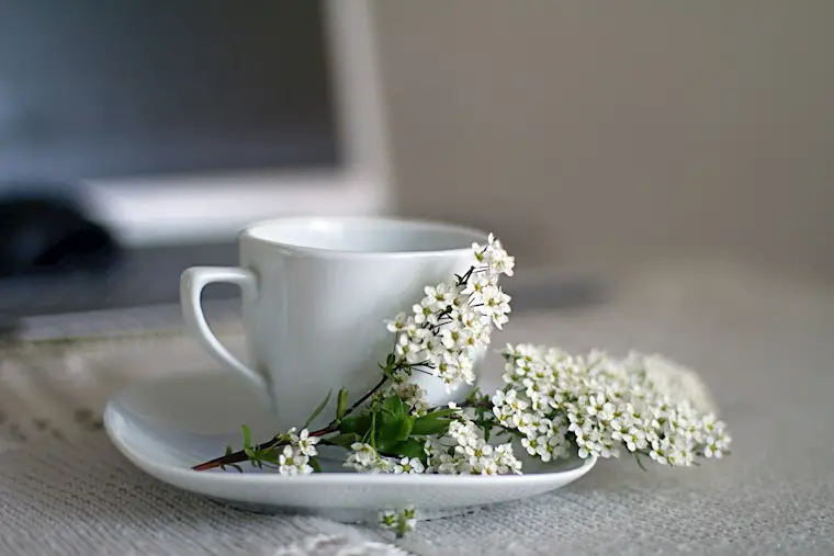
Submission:
[[[7,330],[176,305],[252,220],[386,211],[365,0],[0,2]]]

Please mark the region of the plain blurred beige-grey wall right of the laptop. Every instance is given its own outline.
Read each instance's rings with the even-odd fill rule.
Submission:
[[[834,2],[377,0],[397,211],[834,277]]]

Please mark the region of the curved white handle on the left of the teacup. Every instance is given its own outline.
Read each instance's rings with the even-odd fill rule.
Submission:
[[[180,304],[182,305],[182,317],[185,319],[185,325],[196,336],[196,340],[205,351],[221,364],[243,377],[253,392],[271,407],[269,386],[263,375],[229,353],[208,328],[200,298],[203,288],[213,282],[237,284],[240,286],[245,303],[258,297],[258,280],[255,274],[246,269],[238,266],[192,266],[187,269],[180,277]]]

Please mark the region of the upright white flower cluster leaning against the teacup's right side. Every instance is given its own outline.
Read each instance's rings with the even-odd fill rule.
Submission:
[[[493,327],[509,319],[510,297],[498,285],[512,275],[515,259],[492,234],[487,243],[473,243],[475,264],[451,283],[426,286],[425,297],[386,321],[397,336],[394,353],[401,368],[425,367],[440,377],[447,390],[473,384],[473,359],[489,343]]]

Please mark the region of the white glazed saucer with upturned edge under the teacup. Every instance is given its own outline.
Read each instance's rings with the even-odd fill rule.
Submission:
[[[340,521],[375,520],[379,510],[413,504],[424,518],[470,511],[540,495],[572,483],[594,458],[528,468],[516,476],[367,475],[324,473],[282,477],[245,466],[246,473],[194,472],[191,466],[238,449],[240,424],[253,439],[274,434],[269,413],[232,375],[185,374],[138,383],[114,397],[104,425],[116,447],[159,480],[263,512],[317,513]],[[324,455],[324,454],[323,454]],[[323,467],[342,470],[338,462]]]

